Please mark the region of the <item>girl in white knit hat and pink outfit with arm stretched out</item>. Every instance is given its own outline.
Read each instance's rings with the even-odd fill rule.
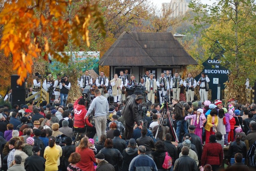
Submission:
[[[191,125],[196,126],[195,135],[199,136],[202,141],[203,125],[206,122],[206,117],[204,116],[203,109],[201,108],[197,109],[196,114],[186,116],[185,120],[187,120],[188,118],[192,119]]]

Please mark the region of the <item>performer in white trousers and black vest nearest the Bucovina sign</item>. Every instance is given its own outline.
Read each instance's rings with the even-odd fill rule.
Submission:
[[[197,81],[197,85],[199,85],[200,100],[202,103],[208,100],[208,91],[209,91],[208,82],[210,82],[210,79],[207,77],[207,75],[204,72],[202,72],[201,77]]]

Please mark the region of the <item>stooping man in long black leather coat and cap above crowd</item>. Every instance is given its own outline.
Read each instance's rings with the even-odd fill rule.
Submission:
[[[127,104],[122,110],[122,115],[125,120],[125,140],[132,138],[134,122],[142,129],[138,110],[143,98],[142,95],[136,96],[135,94],[128,96]]]

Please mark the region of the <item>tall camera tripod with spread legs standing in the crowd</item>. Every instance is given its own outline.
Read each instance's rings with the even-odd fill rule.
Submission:
[[[158,135],[158,132],[159,131],[161,131],[161,129],[162,129],[162,125],[163,126],[165,126],[165,124],[163,124],[163,119],[164,119],[164,117],[166,116],[167,117],[167,119],[169,120],[169,122],[170,122],[170,126],[171,126],[171,130],[172,130],[172,133],[173,133],[173,135],[175,136],[175,140],[176,140],[176,142],[178,142],[178,137],[177,137],[177,134],[176,134],[176,131],[175,131],[175,129],[174,129],[174,125],[173,125],[173,121],[172,121],[172,118],[171,118],[171,116],[170,116],[170,113],[171,113],[171,111],[170,111],[170,109],[168,108],[168,106],[169,106],[169,103],[168,102],[165,102],[165,104],[163,104],[164,106],[163,106],[163,112],[162,112],[162,114],[161,114],[161,119],[160,119],[160,122],[159,122],[159,125],[158,125],[158,128],[157,128],[157,133],[155,134],[155,139],[157,139],[157,135]],[[163,135],[164,136],[164,135]]]

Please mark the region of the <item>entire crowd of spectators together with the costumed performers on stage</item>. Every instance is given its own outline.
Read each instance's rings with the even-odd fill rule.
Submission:
[[[140,85],[153,102],[148,105],[143,95],[125,96],[126,89],[137,84],[127,72],[114,74],[110,81],[103,72],[96,80],[86,72],[78,83],[81,93],[88,85],[93,90],[89,106],[84,96],[64,105],[71,86],[68,77],[58,79],[58,88],[67,91],[53,104],[43,101],[36,106],[30,100],[30,105],[14,104],[12,109],[0,105],[1,169],[255,170],[256,104],[230,101],[224,106],[221,100],[207,100],[203,96],[209,78],[204,73],[196,82],[191,74],[182,81],[178,73],[171,77],[166,71],[156,80],[146,71]],[[199,85],[201,100],[195,101],[190,93],[187,101],[175,98],[181,85],[190,93]],[[106,96],[110,87],[113,104]],[[157,91],[170,102],[160,98],[161,103],[155,103]]]

